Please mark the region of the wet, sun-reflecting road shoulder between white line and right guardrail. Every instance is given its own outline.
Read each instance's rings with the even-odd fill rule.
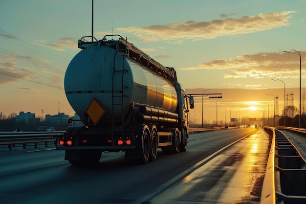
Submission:
[[[269,136],[259,129],[155,197],[150,204],[259,204]]]

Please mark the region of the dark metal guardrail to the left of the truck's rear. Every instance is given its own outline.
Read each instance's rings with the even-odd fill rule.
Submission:
[[[47,147],[48,142],[55,141],[51,136],[60,136],[62,133],[64,132],[3,132],[0,133],[0,145],[7,145],[8,149],[12,150],[16,144],[22,144],[22,149],[25,149],[28,143],[34,143],[34,147],[37,148],[37,143],[44,142]]]

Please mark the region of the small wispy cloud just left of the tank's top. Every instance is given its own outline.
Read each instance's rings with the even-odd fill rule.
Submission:
[[[46,42],[41,40],[36,40],[37,42]],[[54,44],[40,44],[44,47],[49,47],[58,51],[66,51],[66,49],[77,49],[78,40],[72,37],[60,38],[58,42]]]

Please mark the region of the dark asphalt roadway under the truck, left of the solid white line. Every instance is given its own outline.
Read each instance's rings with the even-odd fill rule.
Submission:
[[[154,162],[130,165],[124,153],[102,154],[95,168],[71,166],[64,151],[0,152],[3,204],[131,204],[222,147],[256,130],[232,129],[191,134],[187,151],[158,152]],[[208,160],[207,160],[208,162]]]

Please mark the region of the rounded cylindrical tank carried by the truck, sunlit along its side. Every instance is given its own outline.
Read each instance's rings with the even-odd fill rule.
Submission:
[[[115,116],[114,112],[123,112],[124,118],[128,118],[133,113],[131,104],[175,113],[177,93],[174,84],[129,56],[128,48],[119,49],[120,42],[100,40],[71,60],[64,85],[74,111],[85,121],[88,113],[93,114],[97,126],[110,125],[112,116],[118,117],[113,120],[122,118],[122,113]],[[95,113],[94,109],[101,113]]]

